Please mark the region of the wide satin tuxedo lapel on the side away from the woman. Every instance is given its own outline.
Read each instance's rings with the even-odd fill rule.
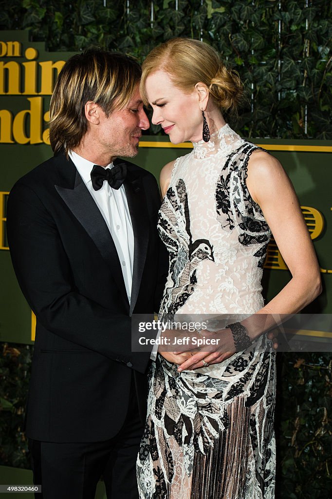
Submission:
[[[128,303],[118,252],[107,224],[73,162],[70,159],[66,161],[64,156],[56,159],[58,159],[59,183],[62,185],[55,185],[55,189],[112,268],[114,280]]]

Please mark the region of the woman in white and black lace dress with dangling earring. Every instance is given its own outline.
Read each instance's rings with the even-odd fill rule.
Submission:
[[[280,163],[226,124],[223,113],[236,110],[243,87],[213,48],[185,38],[155,48],[143,64],[141,93],[173,144],[193,142],[161,172],[159,232],[169,273],[160,319],[251,317],[217,332],[219,352],[184,362],[159,352],[137,461],[140,497],[273,498],[275,353],[263,334],[265,314],[296,313],[320,293],[310,235]],[[264,306],[271,232],[292,279]]]

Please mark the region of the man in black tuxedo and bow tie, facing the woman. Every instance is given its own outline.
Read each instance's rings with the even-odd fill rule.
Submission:
[[[54,157],[14,185],[7,235],[37,318],[26,434],[45,499],[138,497],[150,353],[131,347],[131,315],[158,311],[166,255],[160,194],[134,157],[149,128],[134,59],[71,57],[51,99]]]

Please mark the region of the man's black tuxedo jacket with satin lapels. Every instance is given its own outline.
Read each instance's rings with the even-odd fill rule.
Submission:
[[[133,371],[144,417],[150,353],[132,352],[131,315],[158,311],[167,264],[156,230],[157,182],[126,163],[135,241],[130,305],[108,227],[70,159],[55,155],[9,194],[12,263],[37,318],[26,413],[30,438],[112,438],[130,404]]]

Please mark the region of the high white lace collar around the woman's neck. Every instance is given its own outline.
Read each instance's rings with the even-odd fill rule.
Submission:
[[[241,140],[241,137],[226,123],[219,130],[211,134],[208,142],[204,142],[203,140],[193,142],[193,153],[197,159],[221,154],[233,148],[234,143]]]

